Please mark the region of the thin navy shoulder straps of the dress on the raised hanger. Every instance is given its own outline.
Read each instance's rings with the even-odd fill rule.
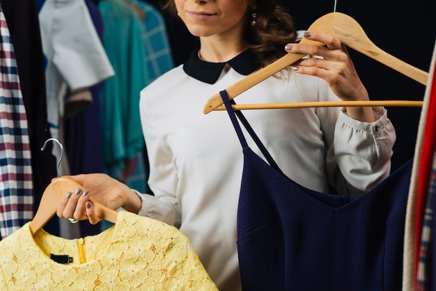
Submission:
[[[276,170],[281,172],[279,166],[277,166],[277,163],[271,157],[270,152],[268,152],[268,150],[265,148],[265,146],[263,146],[262,141],[260,141],[256,132],[254,132],[253,128],[251,127],[251,125],[249,125],[247,119],[242,114],[242,111],[233,110],[231,104],[236,104],[235,101],[228,100],[227,91],[225,91],[225,90],[219,92],[219,94],[221,95],[221,98],[224,102],[224,105],[226,106],[226,110],[227,110],[228,116],[230,116],[230,119],[233,123],[233,127],[235,127],[236,134],[238,134],[238,138],[239,138],[239,141],[241,143],[242,148],[244,148],[244,149],[249,148],[249,146],[248,146],[247,140],[245,139],[244,134],[242,133],[242,129],[240,127],[240,124],[238,123],[238,119],[236,118],[236,116],[238,116],[242,125],[244,125],[245,129],[247,129],[247,132],[250,134],[251,138],[254,140],[254,142],[256,143],[256,146],[258,146],[258,148],[260,149],[260,152],[262,152],[265,159],[267,159],[267,162],[270,164],[270,166],[272,166],[273,168],[275,168]]]

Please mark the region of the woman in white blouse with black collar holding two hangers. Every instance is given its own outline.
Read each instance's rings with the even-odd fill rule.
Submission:
[[[322,59],[295,63],[242,93],[238,102],[368,100],[368,93],[336,38],[310,31],[306,38],[327,46],[292,43],[292,20],[276,1],[166,2],[201,46],[184,65],[141,91],[148,183],[155,196],[139,194],[107,175],[77,175],[71,178],[87,190],[65,197],[57,214],[97,223],[89,193],[113,209],[177,226],[192,240],[218,288],[240,290],[236,212],[242,150],[227,113],[204,115],[205,103],[286,52]],[[343,194],[362,194],[389,175],[395,132],[382,108],[244,114],[281,170],[305,187],[326,192],[332,184]]]

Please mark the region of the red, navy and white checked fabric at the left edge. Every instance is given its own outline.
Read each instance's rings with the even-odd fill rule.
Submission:
[[[0,6],[0,233],[33,218],[33,182],[26,109],[8,25]]]

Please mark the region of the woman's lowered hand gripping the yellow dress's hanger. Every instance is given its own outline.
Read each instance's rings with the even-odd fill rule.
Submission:
[[[63,178],[74,180],[83,188],[76,189],[73,193],[65,193],[56,212],[58,217],[88,219],[92,224],[98,223],[102,219],[95,214],[93,205],[89,201],[90,196],[113,210],[123,207],[127,211],[138,213],[141,209],[141,198],[126,184],[109,175],[93,173],[63,176]]]

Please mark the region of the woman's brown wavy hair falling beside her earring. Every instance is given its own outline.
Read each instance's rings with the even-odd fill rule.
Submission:
[[[245,0],[244,41],[258,56],[263,66],[269,65],[286,54],[284,46],[297,38],[293,18],[277,5],[276,0]],[[177,16],[176,4],[166,0],[162,7],[170,15]],[[251,25],[252,14],[256,13],[256,24]]]

